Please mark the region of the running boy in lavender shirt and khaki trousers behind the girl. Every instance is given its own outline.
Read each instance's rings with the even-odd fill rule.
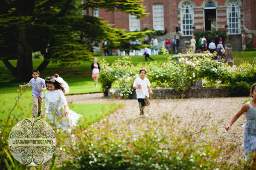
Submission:
[[[44,79],[39,77],[40,72],[37,69],[34,69],[32,71],[32,79],[29,81],[28,84],[21,85],[19,87],[31,87],[32,86],[32,98],[33,98],[33,109],[32,114],[33,118],[36,118],[36,116],[41,115],[42,111],[42,100],[44,98],[43,91],[46,89]],[[43,88],[44,86],[44,88]]]

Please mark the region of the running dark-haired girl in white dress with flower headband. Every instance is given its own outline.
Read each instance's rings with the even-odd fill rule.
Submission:
[[[74,135],[71,134],[68,128],[77,126],[78,119],[83,117],[83,115],[73,112],[67,106],[64,87],[55,77],[47,77],[45,84],[48,91],[45,92],[45,107],[41,118],[44,118],[45,112],[47,112],[46,117],[51,122],[54,122],[52,128],[61,128],[74,144]]]

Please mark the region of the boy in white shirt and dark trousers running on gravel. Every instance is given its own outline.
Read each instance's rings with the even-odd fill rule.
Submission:
[[[147,74],[146,69],[140,69],[140,77],[136,78],[134,84],[132,85],[134,89],[136,89],[137,99],[139,101],[140,107],[140,115],[144,115],[144,108],[145,106],[149,105],[149,95],[153,92],[150,88],[150,82],[148,78],[145,78]],[[148,94],[149,90],[149,94]]]

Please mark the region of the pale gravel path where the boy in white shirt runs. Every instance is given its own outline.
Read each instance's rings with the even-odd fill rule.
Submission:
[[[139,117],[139,107],[137,100],[120,100],[104,98],[103,93],[84,94],[84,95],[67,95],[68,102],[73,103],[123,103],[125,107],[117,110],[111,115],[107,115],[109,123],[125,124],[129,127],[130,132],[137,131],[138,124],[143,123],[143,118]],[[202,125],[208,127],[217,127],[218,133],[209,132],[208,136],[201,136],[201,139],[220,137],[225,138],[225,142],[236,144],[238,147],[232,154],[228,162],[238,164],[238,159],[243,159],[242,148],[242,124],[245,123],[246,117],[242,115],[232,126],[231,130],[227,132],[227,126],[236,112],[239,111],[244,103],[244,100],[250,97],[230,97],[230,98],[189,98],[189,99],[154,99],[151,104],[145,109],[144,118],[151,121],[157,121],[160,116],[168,112],[172,115],[179,116],[181,121],[180,125],[188,128],[200,129]],[[208,115],[208,117],[207,117]],[[207,117],[207,118],[205,118]],[[95,125],[95,126],[94,126]],[[104,128],[104,124],[95,123],[94,127]],[[117,125],[122,126],[122,125]],[[116,128],[116,127],[115,127]],[[122,129],[122,127],[117,127]],[[223,155],[223,157],[225,157]]]

